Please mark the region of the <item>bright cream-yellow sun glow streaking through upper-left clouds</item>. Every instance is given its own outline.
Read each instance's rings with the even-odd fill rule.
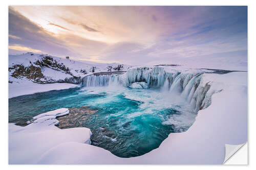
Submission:
[[[55,34],[58,38],[67,37],[69,35],[76,35],[81,38],[100,41],[108,44],[119,41],[117,37],[113,37],[104,33],[104,30],[98,30],[95,23],[91,19],[78,20],[81,18],[72,18],[72,20],[65,19],[66,17],[59,16],[58,13],[67,13],[65,8],[44,8],[29,6],[13,6],[14,10],[29,18],[37,26],[43,28],[49,33]],[[74,15],[74,14],[73,14]],[[84,14],[85,15],[85,14]],[[44,17],[42,17],[44,16]],[[67,18],[70,18],[68,16]]]

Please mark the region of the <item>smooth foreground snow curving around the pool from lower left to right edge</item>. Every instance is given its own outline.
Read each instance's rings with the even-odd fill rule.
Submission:
[[[87,128],[60,130],[54,126],[9,124],[9,163],[222,164],[226,143],[247,141],[247,72],[206,74],[203,81],[208,80],[215,82],[212,87],[223,90],[212,95],[211,105],[199,111],[196,122],[186,132],[169,134],[150,153],[133,158],[116,157],[84,143],[88,141],[86,136],[90,136]]]

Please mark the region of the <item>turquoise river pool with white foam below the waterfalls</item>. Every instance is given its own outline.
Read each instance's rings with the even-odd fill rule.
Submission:
[[[92,144],[119,157],[158,148],[170,133],[186,131],[197,115],[184,100],[161,89],[91,87],[9,99],[9,123],[22,125],[40,113],[81,106],[99,109],[84,122],[93,133]]]

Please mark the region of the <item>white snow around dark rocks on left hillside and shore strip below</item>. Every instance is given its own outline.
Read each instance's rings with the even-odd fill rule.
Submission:
[[[30,65],[39,67],[35,65],[34,62],[42,61],[42,57],[50,56],[55,60],[58,64],[63,64],[66,68],[70,69],[70,72],[73,76],[76,77],[85,77],[95,72],[108,71],[108,66],[117,67],[119,63],[95,63],[95,62],[87,62],[87,61],[76,61],[76,60],[68,60],[60,57],[55,57],[47,54],[35,54],[35,53],[25,53],[20,55],[9,55],[9,67],[13,67],[16,64],[24,65],[28,67]],[[94,72],[90,72],[92,67],[95,68]],[[129,69],[131,66],[123,65],[123,70]],[[64,81],[66,78],[72,78],[73,76],[68,74],[63,70],[56,70],[56,68],[52,69],[46,66],[41,66],[42,74],[47,78],[47,80],[51,82],[56,81]],[[88,74],[84,74],[81,72],[82,70],[86,70]],[[38,84],[33,83],[31,80],[26,77],[14,78],[12,77],[14,69],[10,69],[9,71],[9,98],[13,98],[19,95],[32,94],[36,92],[44,92],[50,90],[60,90],[78,87],[75,84],[68,83],[51,83],[51,84]],[[44,81],[44,80],[42,80]]]

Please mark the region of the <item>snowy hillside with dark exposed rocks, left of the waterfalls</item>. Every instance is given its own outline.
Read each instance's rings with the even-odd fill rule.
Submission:
[[[102,71],[127,70],[131,66],[119,63],[86,63],[47,54],[9,55],[9,83],[79,84],[82,77]]]

